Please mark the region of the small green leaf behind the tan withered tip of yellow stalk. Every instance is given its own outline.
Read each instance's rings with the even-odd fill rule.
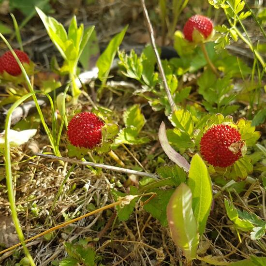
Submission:
[[[117,201],[119,197],[125,197],[127,196],[127,194],[116,191],[114,189],[111,190],[114,199]],[[131,195],[136,195],[137,194],[137,189],[133,186],[130,187],[130,194]],[[130,215],[133,212],[133,209],[135,207],[135,203],[136,203],[137,198],[134,198],[130,204],[125,205],[124,207],[120,207],[117,206],[117,210],[118,210],[118,219],[119,221],[127,221],[130,217]]]

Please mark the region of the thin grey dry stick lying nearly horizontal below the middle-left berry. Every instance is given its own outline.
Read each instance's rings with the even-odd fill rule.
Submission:
[[[35,155],[41,156],[41,157],[44,157],[44,158],[55,159],[55,160],[63,161],[63,162],[78,163],[78,164],[82,164],[82,165],[89,165],[89,166],[92,166],[92,167],[100,167],[102,169],[112,170],[112,171],[116,171],[116,172],[120,172],[120,173],[133,174],[133,175],[136,175],[136,176],[152,177],[154,179],[159,179],[159,177],[157,175],[155,175],[155,174],[139,172],[139,171],[135,171],[135,170],[131,170],[131,169],[125,169],[125,168],[112,166],[112,165],[107,165],[107,164],[103,164],[103,163],[82,162],[82,161],[79,161],[79,160],[76,160],[76,159],[58,157],[58,156],[55,156],[55,155],[43,154],[43,153],[38,153],[38,152],[36,152]]]

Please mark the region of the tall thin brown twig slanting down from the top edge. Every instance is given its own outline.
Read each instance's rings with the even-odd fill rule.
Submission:
[[[145,0],[140,0],[140,1],[141,1],[141,4],[142,4],[144,17],[145,17],[145,20],[146,20],[146,23],[147,23],[147,28],[148,28],[148,32],[149,32],[150,42],[151,42],[152,48],[154,50],[154,53],[155,53],[155,56],[156,56],[156,59],[157,59],[157,64],[158,64],[158,67],[159,67],[160,74],[161,74],[161,76],[163,78],[164,89],[166,91],[167,98],[168,98],[168,101],[169,101],[170,106],[171,106],[171,110],[172,110],[172,112],[174,112],[177,109],[177,106],[176,106],[176,104],[175,104],[175,102],[174,102],[174,100],[172,98],[170,89],[168,87],[167,80],[166,80],[166,77],[165,77],[165,74],[164,74],[164,71],[163,71],[162,61],[160,59],[158,50],[156,48],[155,38],[154,38],[154,31],[153,31],[153,28],[152,28],[152,25],[151,25],[151,22],[150,22],[150,19],[149,19],[149,16],[148,16],[148,11],[147,11],[147,8],[146,8],[146,5],[145,5]]]

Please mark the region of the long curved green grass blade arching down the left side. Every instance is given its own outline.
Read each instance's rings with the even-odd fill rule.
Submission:
[[[4,159],[5,159],[5,172],[6,172],[6,186],[7,186],[7,194],[8,194],[8,200],[10,203],[10,209],[11,209],[11,215],[12,219],[15,225],[15,230],[18,235],[18,238],[20,242],[22,242],[23,245],[23,250],[25,255],[30,261],[31,266],[35,266],[35,263],[30,255],[29,250],[27,249],[25,242],[24,242],[24,236],[22,229],[20,227],[20,223],[17,217],[17,212],[16,212],[16,205],[15,205],[15,195],[14,195],[14,190],[13,190],[13,177],[12,177],[12,169],[11,169],[11,156],[10,156],[10,143],[9,143],[9,130],[11,126],[11,118],[12,118],[12,113],[14,109],[19,106],[21,103],[23,103],[25,100],[33,96],[33,93],[28,93],[21,97],[19,100],[17,100],[12,107],[8,110],[6,120],[5,120],[5,148],[4,148]]]

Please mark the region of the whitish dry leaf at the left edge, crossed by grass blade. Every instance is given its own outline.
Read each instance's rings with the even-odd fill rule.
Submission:
[[[10,147],[18,147],[26,143],[31,137],[33,137],[37,132],[37,129],[28,129],[22,131],[15,131],[10,129],[8,131],[8,141]],[[5,146],[5,131],[0,133],[0,148]]]

